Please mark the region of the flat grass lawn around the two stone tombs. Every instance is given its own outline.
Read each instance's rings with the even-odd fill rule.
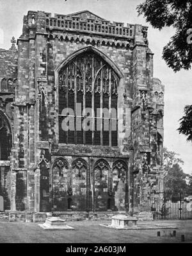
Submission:
[[[163,230],[115,230],[99,226],[110,224],[111,221],[72,221],[67,222],[75,230],[43,230],[38,223],[0,222],[1,243],[136,243],[136,242],[181,242],[180,236],[185,235],[185,242],[192,243],[192,220],[158,221],[177,226],[176,237],[170,237]],[[157,237],[157,231],[161,237]],[[173,231],[173,230],[172,230]]]

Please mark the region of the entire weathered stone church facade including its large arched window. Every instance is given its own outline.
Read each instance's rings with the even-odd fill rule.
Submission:
[[[150,210],[162,188],[164,86],[147,27],[29,11],[11,42],[0,49],[4,210]]]

